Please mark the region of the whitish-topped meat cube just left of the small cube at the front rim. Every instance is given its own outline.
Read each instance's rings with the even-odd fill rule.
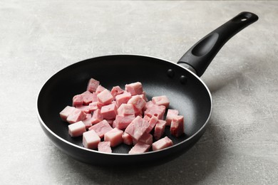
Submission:
[[[83,132],[83,146],[87,149],[97,149],[98,143],[101,142],[101,138],[98,137],[98,134],[92,129],[87,132]]]

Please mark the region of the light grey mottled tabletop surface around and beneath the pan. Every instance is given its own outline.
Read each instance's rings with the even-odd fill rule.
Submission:
[[[0,1],[1,184],[277,184],[277,1]],[[259,21],[232,38],[202,76],[214,109],[181,157],[148,169],[105,169],[53,146],[36,97],[79,60],[135,53],[177,61],[241,11]]]

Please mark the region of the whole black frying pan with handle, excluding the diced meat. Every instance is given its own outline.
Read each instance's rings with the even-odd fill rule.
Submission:
[[[232,36],[257,20],[258,16],[250,12],[238,14],[198,41],[177,63],[150,56],[113,55],[90,58],[63,68],[38,93],[37,115],[43,131],[56,147],[88,164],[125,166],[168,162],[200,139],[210,119],[212,96],[200,76]],[[114,147],[112,154],[84,148],[82,137],[69,136],[68,124],[61,120],[59,112],[71,105],[74,95],[86,90],[90,78],[99,80],[108,89],[141,82],[148,100],[166,95],[169,108],[179,110],[185,117],[185,134],[172,137],[167,128],[165,135],[174,145],[144,154],[128,154],[131,147],[125,144]]]

